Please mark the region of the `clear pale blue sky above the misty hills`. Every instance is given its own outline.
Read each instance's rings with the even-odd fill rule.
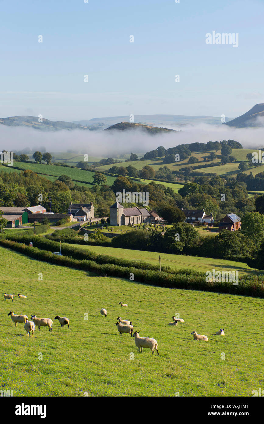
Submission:
[[[0,0],[0,117],[238,116],[264,103],[263,16],[263,0]]]

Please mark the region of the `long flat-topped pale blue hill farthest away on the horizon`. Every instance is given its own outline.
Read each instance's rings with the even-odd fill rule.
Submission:
[[[73,121],[75,124],[80,124],[89,127],[89,129],[104,129],[120,122],[130,122],[129,115],[123,116],[108,116],[101,118],[93,118],[90,120]],[[225,117],[226,122],[233,118]],[[211,125],[220,125],[221,118],[213,116],[188,116],[188,115],[134,115],[134,123],[140,123],[149,126],[185,126],[207,123]]]

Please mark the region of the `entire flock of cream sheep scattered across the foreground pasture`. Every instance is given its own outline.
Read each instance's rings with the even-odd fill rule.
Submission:
[[[27,296],[18,294],[19,298],[22,299],[26,299]],[[7,299],[12,299],[12,302],[14,302],[14,295],[12,294],[6,294],[4,293],[4,298],[5,301]],[[127,307],[126,303],[122,303],[119,302],[119,304],[121,305],[121,307]],[[100,311],[101,315],[104,317],[107,316],[107,311],[106,309],[101,309]],[[25,323],[25,330],[27,332],[27,334],[30,337],[30,333],[33,333],[35,331],[35,325],[38,326],[38,330],[40,331],[40,327],[41,326],[48,326],[49,327],[49,331],[52,331],[52,324],[53,321],[50,318],[38,318],[36,317],[36,315],[31,315],[31,320],[32,321],[28,321],[27,315],[15,315],[14,312],[9,312],[8,316],[11,317],[11,320],[15,323],[15,326],[17,323]],[[172,322],[170,322],[168,325],[174,325],[177,326],[178,323],[184,323],[184,320],[182,318],[176,318],[175,316],[171,317],[173,319]],[[69,323],[69,318],[66,317],[61,317],[60,315],[57,315],[54,319],[58,319],[60,326],[64,327],[64,325],[68,325],[68,328],[70,328],[70,323]],[[139,335],[139,331],[135,331],[134,332],[134,328],[133,328],[133,324],[132,321],[130,320],[122,320],[121,317],[116,318],[117,319],[117,323],[115,325],[117,325],[117,329],[118,332],[120,333],[120,335],[122,336],[123,333],[127,333],[130,334],[131,337],[135,338],[135,345],[138,348],[138,351],[140,353],[142,353],[142,349],[143,348],[148,348],[151,350],[152,355],[154,354],[154,349],[157,352],[158,356],[159,356],[159,351],[157,349],[158,343],[156,339],[150,338],[150,337],[140,337]],[[220,336],[224,336],[225,333],[223,331],[224,329],[221,329],[219,331],[217,331],[216,333],[214,333],[214,335],[220,335]],[[133,334],[134,332],[134,334]],[[197,332],[194,330],[191,332],[191,334],[193,335],[194,340],[204,340],[204,341],[208,341],[208,337],[202,334],[197,334]]]

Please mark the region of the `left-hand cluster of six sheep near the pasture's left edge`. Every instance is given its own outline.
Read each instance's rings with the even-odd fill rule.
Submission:
[[[27,296],[24,296],[21,294],[18,294],[18,296],[21,299],[27,298]],[[5,301],[6,299],[12,299],[12,302],[14,302],[13,294],[4,293],[4,298],[5,298]],[[15,315],[13,311],[9,312],[7,315],[11,317],[11,320],[15,323],[15,327],[17,323],[25,323],[24,328],[27,334],[29,335],[29,337],[30,337],[30,333],[32,333],[32,336],[33,336],[33,333],[35,331],[35,325],[38,326],[39,331],[40,331],[40,327],[45,327],[45,326],[48,326],[49,331],[52,331],[53,321],[50,318],[38,318],[34,314],[34,315],[31,315],[31,318],[30,318],[32,321],[28,321],[27,315]],[[57,319],[59,321],[61,327],[64,327],[64,325],[68,324],[68,328],[70,328],[69,318],[61,317],[60,315],[57,315],[54,319]]]

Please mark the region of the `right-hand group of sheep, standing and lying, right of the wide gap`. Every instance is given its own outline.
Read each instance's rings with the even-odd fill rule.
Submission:
[[[125,306],[127,307],[127,304],[120,302],[119,303],[121,306]],[[107,316],[107,310],[106,309],[101,309],[100,310],[101,315],[104,317]],[[168,325],[178,325],[178,323],[183,323],[184,320],[182,318],[176,318],[175,316],[171,317],[173,319],[172,322],[169,322]],[[123,333],[127,333],[130,334],[131,337],[135,338],[135,344],[138,348],[138,351],[140,353],[142,353],[142,349],[144,348],[148,348],[151,350],[152,355],[154,354],[154,349],[157,351],[157,354],[159,356],[159,351],[157,349],[158,343],[156,339],[150,338],[150,337],[140,337],[139,336],[139,331],[135,331],[135,333],[133,334],[134,328],[133,328],[133,324],[132,321],[130,320],[123,320],[121,319],[121,317],[116,318],[117,319],[117,323],[115,325],[117,325],[117,329],[120,333],[120,335],[122,336]],[[223,331],[224,329],[221,329],[219,331],[217,331],[216,333],[214,333],[214,335],[217,336],[224,336],[225,333]],[[194,340],[204,340],[206,342],[208,342],[208,337],[204,336],[203,334],[197,334],[197,332],[194,330],[191,332],[191,334],[193,335]]]

